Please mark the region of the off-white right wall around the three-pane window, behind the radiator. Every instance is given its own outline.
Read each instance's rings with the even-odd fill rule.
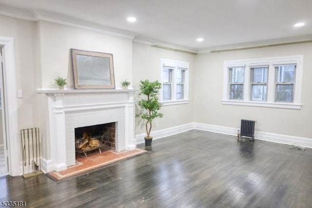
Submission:
[[[222,104],[224,61],[290,55],[304,55],[301,110]],[[199,54],[195,68],[195,122],[239,129],[250,119],[256,131],[312,138],[312,43]]]

